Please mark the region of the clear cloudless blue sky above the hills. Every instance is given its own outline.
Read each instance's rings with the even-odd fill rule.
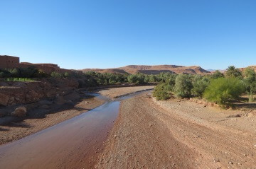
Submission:
[[[1,0],[0,54],[66,69],[256,64],[255,0]]]

